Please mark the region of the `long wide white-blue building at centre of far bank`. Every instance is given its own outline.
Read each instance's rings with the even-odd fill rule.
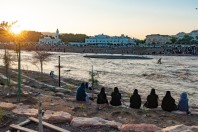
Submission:
[[[128,36],[107,36],[107,35],[95,35],[93,37],[85,39],[86,44],[94,44],[94,45],[134,45],[135,40],[129,38]]]

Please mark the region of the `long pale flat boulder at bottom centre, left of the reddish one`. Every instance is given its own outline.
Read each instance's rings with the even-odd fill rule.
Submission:
[[[108,121],[99,117],[74,117],[71,121],[71,125],[75,127],[107,126],[119,128],[122,124],[115,121]]]

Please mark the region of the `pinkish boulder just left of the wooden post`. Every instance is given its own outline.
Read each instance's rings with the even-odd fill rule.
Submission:
[[[37,109],[30,109],[29,105],[19,104],[15,109],[12,110],[13,113],[18,115],[26,115],[36,117],[38,115]]]

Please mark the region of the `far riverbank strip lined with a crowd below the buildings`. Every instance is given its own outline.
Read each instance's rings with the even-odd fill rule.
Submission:
[[[4,48],[16,49],[13,44],[0,45],[0,49]],[[126,55],[165,55],[165,56],[197,56],[198,48],[195,46],[174,46],[174,45],[159,45],[159,46],[70,46],[70,45],[38,45],[31,43],[22,43],[21,50],[35,51],[45,50],[50,52],[72,52],[72,53],[94,53],[94,54],[126,54]]]

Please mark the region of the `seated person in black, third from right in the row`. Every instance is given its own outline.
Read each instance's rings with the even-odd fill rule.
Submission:
[[[151,93],[147,96],[147,101],[144,104],[147,108],[157,108],[158,107],[158,95],[155,94],[155,89],[151,89]]]

